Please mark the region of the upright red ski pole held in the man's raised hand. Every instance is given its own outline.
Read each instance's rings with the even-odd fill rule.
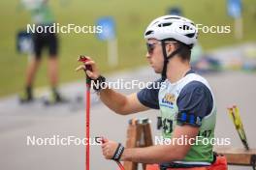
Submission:
[[[85,63],[89,61],[85,56],[80,55],[79,62]],[[92,71],[90,66],[85,65],[85,71],[89,70]],[[85,120],[85,138],[87,141],[90,139],[90,77],[86,74],[86,120]],[[85,147],[85,170],[90,169],[90,146],[89,143],[87,143]]]

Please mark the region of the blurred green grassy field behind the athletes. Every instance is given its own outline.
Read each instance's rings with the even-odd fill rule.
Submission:
[[[63,1],[63,0],[62,0]],[[116,20],[119,66],[107,65],[107,43],[100,42],[92,34],[60,34],[61,82],[81,78],[74,70],[80,54],[93,56],[102,72],[119,71],[146,64],[144,29],[156,16],[163,15],[171,6],[182,8],[185,16],[204,25],[231,25],[231,34],[200,34],[205,49],[232,43],[255,41],[256,4],[254,0],[243,0],[244,37],[234,39],[234,20],[227,15],[224,0],[59,0],[51,1],[57,22],[62,25],[94,25],[95,20],[111,15]],[[16,1],[0,2],[0,96],[18,93],[24,86],[27,56],[16,52],[16,32],[30,22],[30,14],[20,8]],[[35,86],[48,85],[46,57],[35,82]]]

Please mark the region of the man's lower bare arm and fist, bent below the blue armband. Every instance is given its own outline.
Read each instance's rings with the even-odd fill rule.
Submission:
[[[186,136],[186,139],[193,139],[197,136],[199,128],[184,125],[182,127],[177,126],[174,131],[173,140],[170,145],[156,145],[145,148],[131,148],[125,149],[121,160],[142,162],[142,163],[164,163],[171,162],[175,160],[182,160],[189,151],[191,145],[188,142],[177,143],[178,138]],[[103,153],[106,158],[112,158],[115,152],[117,143],[109,141],[103,144]],[[111,150],[112,149],[112,150]],[[110,150],[112,152],[110,152]],[[108,152],[109,151],[109,152]]]

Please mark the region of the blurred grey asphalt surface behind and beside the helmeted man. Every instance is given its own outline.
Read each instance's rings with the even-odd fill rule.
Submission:
[[[152,81],[157,75],[150,68],[141,68],[133,71],[124,71],[108,75],[110,80],[122,78],[125,81],[138,79]],[[217,100],[216,137],[231,138],[231,146],[242,148],[237,134],[226,111],[227,106],[236,103],[240,108],[241,119],[245,128],[248,143],[256,148],[256,136],[253,129],[256,120],[255,73],[241,71],[225,71],[206,74],[215,99]],[[69,98],[75,99],[78,95],[84,96],[83,81],[66,84],[61,91]],[[119,90],[130,94],[133,90]],[[44,91],[41,92],[45,94]],[[84,101],[79,104],[66,104],[45,107],[37,101],[30,105],[20,105],[16,96],[0,100],[0,169],[1,170],[82,170],[84,169],[85,147],[70,146],[27,146],[27,136],[60,137],[85,136]],[[91,107],[91,136],[106,136],[111,140],[124,143],[128,120],[133,117],[147,117],[152,121],[153,135],[156,130],[157,110],[130,116],[119,116],[103,105],[95,94],[92,94]],[[249,167],[229,167],[232,170],[251,169]],[[105,160],[99,146],[91,146],[91,170],[117,169],[114,162]]]

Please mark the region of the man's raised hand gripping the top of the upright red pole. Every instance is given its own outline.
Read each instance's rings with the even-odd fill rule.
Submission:
[[[88,56],[86,56],[86,58],[88,59],[88,61],[86,61],[83,65],[80,65],[76,71],[80,71],[83,70],[86,72],[86,74],[91,78],[91,79],[97,79],[100,76],[100,72],[96,66],[96,63]],[[91,71],[86,70],[85,66],[90,66],[91,67]]]

